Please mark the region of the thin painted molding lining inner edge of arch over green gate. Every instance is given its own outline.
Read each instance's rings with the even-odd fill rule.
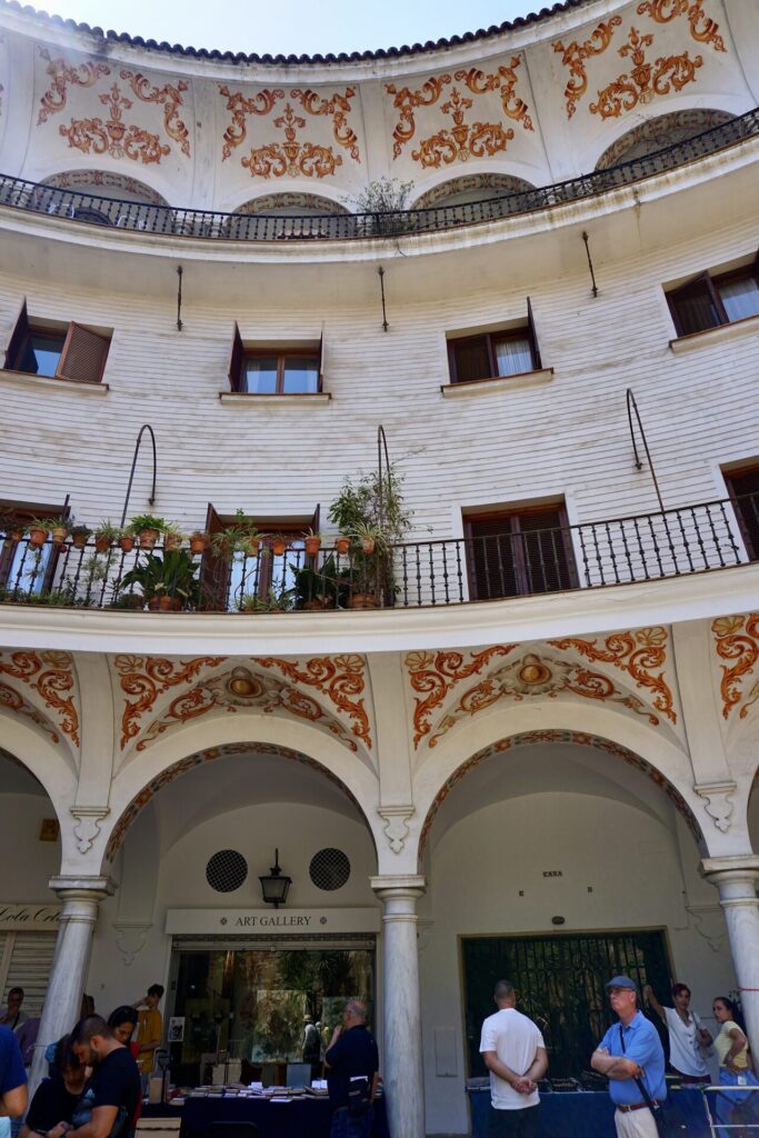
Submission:
[[[427,844],[427,839],[429,836],[430,828],[435,820],[435,817],[443,806],[443,802],[448,797],[453,787],[462,781],[475,767],[485,762],[487,759],[493,758],[495,754],[503,754],[506,751],[513,750],[518,747],[530,747],[530,745],[555,745],[555,744],[570,744],[575,747],[592,747],[594,750],[603,751],[607,754],[612,756],[616,759],[621,759],[629,766],[635,767],[642,774],[644,774],[649,780],[655,783],[663,792],[667,794],[669,800],[673,802],[675,809],[683,816],[686,826],[693,834],[699,849],[704,852],[707,850],[707,841],[696,820],[693,810],[685,801],[684,797],[677,790],[675,785],[665,776],[662,773],[649,762],[647,759],[642,758],[635,751],[630,750],[621,743],[614,742],[610,739],[604,739],[600,735],[591,734],[589,732],[581,731],[570,731],[561,729],[556,727],[548,727],[536,731],[520,732],[515,735],[510,735],[505,739],[498,740],[495,743],[490,743],[487,747],[481,748],[469,759],[465,759],[445,781],[440,786],[435,799],[432,800],[427,814],[424,816],[424,822],[419,836],[419,855],[420,858],[424,852]]]

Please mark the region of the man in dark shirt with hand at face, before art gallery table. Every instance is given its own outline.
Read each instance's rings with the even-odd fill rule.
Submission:
[[[332,1032],[324,1066],[333,1112],[330,1138],[369,1138],[379,1052],[366,1029],[366,1006],[361,1000],[350,999],[343,1008],[343,1026]]]

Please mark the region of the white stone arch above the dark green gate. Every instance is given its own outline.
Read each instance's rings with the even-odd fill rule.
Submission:
[[[588,714],[587,708],[576,703],[546,700],[493,711],[480,723],[470,723],[465,753],[461,735],[453,732],[422,761],[414,780],[420,857],[434,817],[452,787],[487,758],[525,743],[589,745],[635,766],[667,794],[701,852],[721,852],[723,835],[709,825],[707,803],[693,790],[691,762],[679,747],[655,728],[620,712],[593,708]]]

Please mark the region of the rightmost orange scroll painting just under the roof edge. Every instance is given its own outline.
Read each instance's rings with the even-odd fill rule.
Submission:
[[[685,17],[691,38],[696,43],[711,47],[715,51],[727,51],[719,34],[719,25],[703,10],[706,0],[642,0],[637,5],[638,16],[647,16],[659,25],[669,24]],[[588,90],[589,80],[586,65],[609,48],[616,30],[621,27],[620,16],[601,20],[581,42],[572,40],[566,44],[556,40],[553,50],[561,55],[562,64],[569,69],[564,88],[567,117],[571,118],[579,101]],[[627,69],[605,86],[600,86],[595,101],[588,105],[592,115],[601,118],[618,118],[622,112],[633,110],[638,104],[646,105],[654,98],[682,91],[695,82],[696,71],[703,66],[703,57],[691,58],[687,50],[673,52],[663,49],[653,31],[641,31],[630,25],[625,41],[617,53],[628,64]],[[651,49],[651,50],[649,50]]]

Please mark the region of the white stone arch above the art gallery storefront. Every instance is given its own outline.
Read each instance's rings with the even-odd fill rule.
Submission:
[[[107,832],[104,827],[106,864],[117,853],[131,823],[163,786],[203,762],[254,748],[310,766],[338,785],[354,803],[377,850],[381,827],[374,809],[379,800],[374,772],[314,727],[246,712],[184,726],[124,764],[112,786],[110,825]]]

